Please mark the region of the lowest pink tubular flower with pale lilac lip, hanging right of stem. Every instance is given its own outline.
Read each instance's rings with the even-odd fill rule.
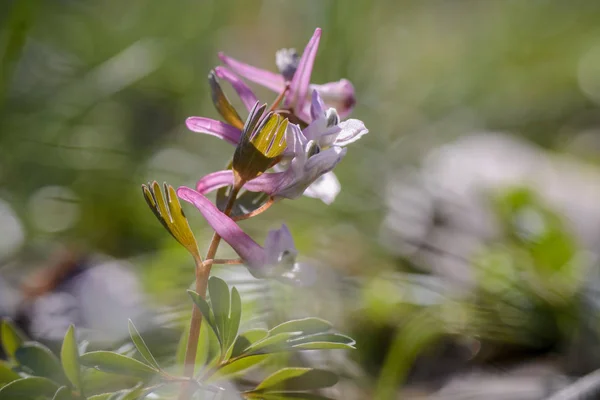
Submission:
[[[273,278],[296,285],[314,283],[313,268],[308,264],[296,262],[298,251],[286,225],[269,231],[263,247],[201,193],[180,187],[177,189],[177,195],[202,213],[215,232],[242,258],[254,277]]]

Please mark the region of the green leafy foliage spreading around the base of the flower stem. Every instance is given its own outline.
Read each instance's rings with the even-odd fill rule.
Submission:
[[[303,349],[353,348],[354,341],[330,332],[331,324],[319,318],[287,321],[271,330],[251,329],[238,335],[242,317],[241,298],[225,281],[211,278],[209,301],[190,291],[205,324],[198,344],[197,364],[203,371],[192,382],[198,390],[224,380],[236,379],[267,361],[273,353]],[[189,379],[163,371],[132,321],[131,340],[143,361],[111,351],[80,355],[75,328],[67,330],[60,360],[37,342],[24,337],[7,321],[2,325],[5,348],[12,351],[14,366],[0,363],[0,400],[136,400],[169,384]],[[214,333],[214,335],[213,335]],[[183,363],[187,331],[181,339],[176,362]],[[85,346],[83,346],[85,347]],[[22,371],[22,376],[16,371]],[[337,376],[311,368],[284,368],[263,380],[246,398],[325,399],[307,393],[334,385]]]

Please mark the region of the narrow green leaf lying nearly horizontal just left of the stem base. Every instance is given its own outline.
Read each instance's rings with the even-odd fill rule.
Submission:
[[[110,351],[86,353],[80,357],[80,360],[83,365],[103,372],[136,376],[141,379],[150,379],[157,372],[138,360]]]

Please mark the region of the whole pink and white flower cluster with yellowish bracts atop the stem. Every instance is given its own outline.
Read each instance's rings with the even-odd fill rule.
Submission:
[[[269,232],[263,247],[236,221],[258,215],[277,200],[295,199],[302,194],[330,204],[340,190],[332,170],[345,156],[345,146],[368,133],[361,121],[345,119],[355,104],[354,87],[349,81],[322,85],[310,82],[320,37],[321,30],[316,29],[301,56],[294,49],[278,51],[275,64],[280,73],[219,54],[224,65],[210,72],[209,84],[223,121],[205,117],[186,121],[190,130],[223,139],[234,145],[235,151],[228,169],[204,176],[194,189],[180,187],[177,196],[193,204],[218,240],[227,242],[259,278],[307,284],[312,273],[307,265],[296,262],[297,251],[285,225]],[[276,92],[275,102],[270,107],[261,104],[244,79]],[[248,112],[245,121],[220,82],[230,84],[239,95]],[[205,197],[215,190],[217,204]],[[145,193],[148,198],[149,192]],[[151,206],[156,199],[150,198]],[[165,219],[168,216],[161,219],[163,224]],[[168,221],[165,226],[169,226]],[[195,248],[195,242],[182,244]],[[210,260],[214,254],[206,258]]]

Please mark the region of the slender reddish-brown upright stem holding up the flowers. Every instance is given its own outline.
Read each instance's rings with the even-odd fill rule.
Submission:
[[[233,205],[235,200],[243,186],[242,184],[236,184],[232,187],[231,193],[229,194],[229,198],[227,199],[227,204],[225,206],[225,211],[223,213],[225,215],[231,214],[231,210],[233,209]],[[215,254],[217,254],[217,249],[219,248],[219,244],[221,243],[221,236],[219,236],[216,232],[213,234],[210,245],[208,246],[208,251],[206,252],[206,257],[204,257],[204,262],[202,262],[199,258],[194,258],[194,262],[196,263],[196,293],[198,293],[202,298],[206,298],[206,289],[208,287],[208,278],[210,277],[210,269],[213,264],[213,259]],[[198,307],[194,304],[192,309],[192,319],[190,321],[190,334],[188,338],[187,347],[185,349],[185,362],[184,362],[184,375],[188,378],[192,378],[194,376],[194,366],[196,363],[196,352],[198,350],[198,338],[200,336],[200,327],[202,326],[202,313]],[[184,384],[183,389],[179,395],[180,400],[188,399],[191,396],[190,393],[190,383],[187,382]]]

